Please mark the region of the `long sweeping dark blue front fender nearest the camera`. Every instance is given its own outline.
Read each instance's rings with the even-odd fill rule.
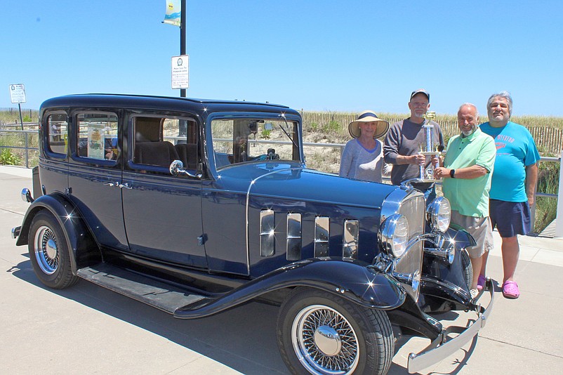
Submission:
[[[268,292],[292,287],[322,289],[378,310],[397,308],[406,298],[397,280],[366,263],[348,258],[312,258],[257,277],[211,302],[178,308],[174,316],[194,319],[213,315]]]

